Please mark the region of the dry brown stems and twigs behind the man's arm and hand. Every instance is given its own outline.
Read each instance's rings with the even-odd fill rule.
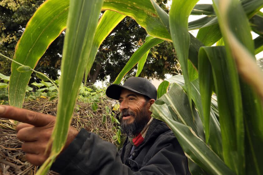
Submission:
[[[112,107],[115,102],[110,99],[103,99],[98,103],[97,111],[92,111],[91,104],[76,103],[71,126],[80,130],[85,128],[98,134],[102,139],[116,145],[112,130],[116,124],[111,122],[109,115],[106,115],[105,106]],[[24,109],[56,115],[57,101],[52,102],[47,99],[38,99],[28,101],[23,104]],[[106,123],[102,122],[103,115],[106,115]],[[118,113],[116,113],[118,115]],[[34,175],[38,167],[28,163],[25,159],[25,153],[21,150],[22,142],[16,137],[16,124],[10,123],[8,119],[0,118],[0,174],[3,175]],[[49,171],[49,175],[58,173]]]

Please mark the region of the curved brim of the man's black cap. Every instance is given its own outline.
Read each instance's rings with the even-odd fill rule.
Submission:
[[[145,95],[145,94],[140,93],[139,91],[137,91],[137,90],[135,90],[135,89],[132,89],[132,88],[127,87],[127,86],[119,85],[119,84],[111,84],[111,85],[106,89],[106,95],[107,95],[109,98],[112,98],[112,99],[115,99],[115,100],[119,100],[122,89],[128,89],[128,90],[130,90],[130,91],[132,91],[132,92]],[[145,95],[145,96],[147,96],[147,95]],[[148,97],[148,96],[147,96],[147,97]]]

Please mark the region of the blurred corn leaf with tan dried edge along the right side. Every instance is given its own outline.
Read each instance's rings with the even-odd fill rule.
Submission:
[[[243,121],[241,123],[240,120],[237,120],[235,122],[237,126],[236,134],[237,138],[239,138],[237,139],[237,143],[239,143],[238,150],[240,152],[238,172],[240,174],[262,174],[263,167],[260,166],[260,161],[263,156],[263,151],[261,151],[260,145],[263,143],[263,105],[261,101],[263,97],[263,75],[255,62],[254,43],[250,34],[249,21],[238,0],[232,0],[228,3],[214,0],[214,8],[218,15],[220,29],[224,37],[228,60],[236,62],[237,69],[242,77],[240,80],[240,88],[245,114],[245,162],[250,165],[246,166],[246,171],[244,171],[244,162],[240,161],[243,156],[241,152],[243,152],[244,148],[242,146],[242,138],[239,137],[239,129],[243,127]],[[231,8],[235,8],[235,12],[230,10]],[[231,18],[229,18],[229,16],[231,16]],[[236,28],[239,30],[236,31]],[[245,83],[244,80],[249,82],[260,96],[258,96],[253,88]]]

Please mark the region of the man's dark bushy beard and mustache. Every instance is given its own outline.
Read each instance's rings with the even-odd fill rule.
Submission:
[[[132,112],[126,110],[121,113],[121,116],[123,114],[130,114]],[[129,138],[134,138],[142,131],[142,129],[146,126],[146,124],[149,121],[149,116],[146,114],[146,112],[143,110],[138,115],[134,115],[134,121],[130,124],[128,124],[127,120],[121,120],[121,133],[126,134]]]

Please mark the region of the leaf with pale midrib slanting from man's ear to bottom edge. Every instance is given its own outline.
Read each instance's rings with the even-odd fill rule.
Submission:
[[[234,174],[224,162],[196,136],[192,128],[173,120],[168,105],[151,106],[152,116],[163,120],[172,128],[184,152],[209,174]],[[209,155],[209,156],[207,156]]]

